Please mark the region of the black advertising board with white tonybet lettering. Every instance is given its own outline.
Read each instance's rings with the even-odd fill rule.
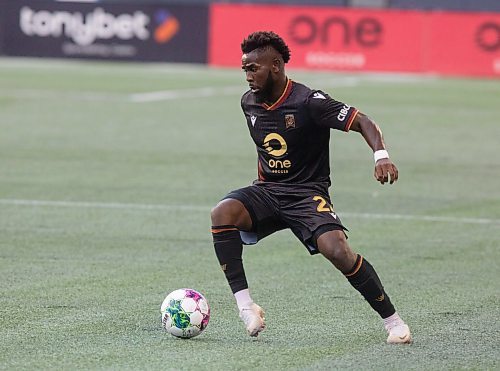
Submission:
[[[8,3],[2,13],[7,55],[207,60],[208,5],[21,0]]]

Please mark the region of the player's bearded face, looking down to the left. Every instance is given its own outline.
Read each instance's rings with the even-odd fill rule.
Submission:
[[[254,94],[268,96],[274,87],[273,60],[266,53],[252,51],[243,54],[241,68],[245,72],[248,86]]]

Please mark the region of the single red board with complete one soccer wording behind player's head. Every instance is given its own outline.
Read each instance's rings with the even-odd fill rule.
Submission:
[[[245,36],[272,30],[289,44],[293,67],[417,71],[421,17],[403,11],[217,4],[211,10],[209,60],[235,65]]]

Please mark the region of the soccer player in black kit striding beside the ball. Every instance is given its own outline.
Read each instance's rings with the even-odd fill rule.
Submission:
[[[255,244],[288,228],[310,254],[322,254],[383,319],[391,344],[410,343],[372,265],[347,243],[346,228],[333,210],[330,129],[360,133],[374,153],[375,178],[398,179],[378,125],[356,108],[320,90],[290,80],[290,50],[274,32],[254,32],[241,44],[241,66],[250,87],[241,98],[257,147],[258,179],[230,192],[211,213],[215,252],[250,336],[264,328],[264,311],[253,302],[243,269],[243,244]]]

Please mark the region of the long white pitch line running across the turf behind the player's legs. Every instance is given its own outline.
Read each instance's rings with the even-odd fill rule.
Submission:
[[[95,209],[125,209],[125,210],[165,210],[165,211],[201,211],[208,213],[210,206],[204,205],[168,205],[168,204],[139,204],[120,202],[85,202],[85,201],[49,201],[49,200],[23,200],[0,199],[0,205],[31,206],[31,207],[69,207],[69,208],[95,208]],[[381,220],[414,220],[426,222],[443,222],[458,224],[489,224],[500,226],[500,219],[490,218],[460,218],[453,216],[411,215],[411,214],[379,214],[379,213],[354,213],[342,212],[342,216],[359,219]]]

